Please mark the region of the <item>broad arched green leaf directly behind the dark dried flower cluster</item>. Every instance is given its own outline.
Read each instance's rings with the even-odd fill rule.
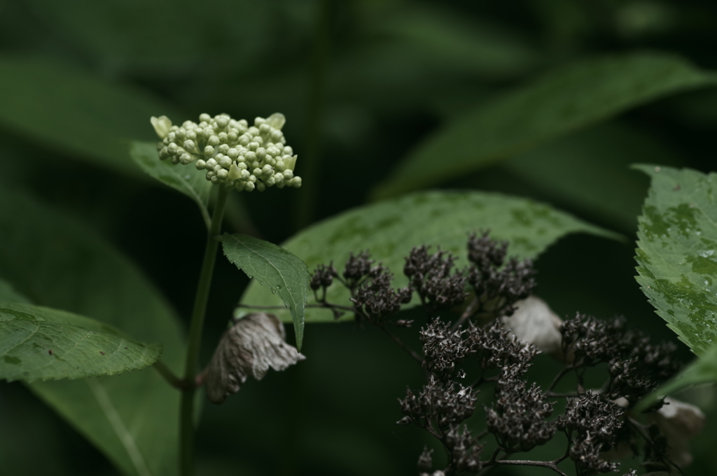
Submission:
[[[462,267],[467,264],[468,235],[489,228],[493,238],[511,242],[509,255],[520,258],[538,256],[568,233],[617,237],[532,200],[494,193],[425,192],[348,210],[303,230],[282,247],[301,258],[310,271],[320,263],[333,261],[339,272],[349,253],[369,249],[376,261],[382,261],[394,273],[394,285],[406,286],[404,256],[411,248],[426,244],[435,250],[440,246],[458,256],[457,266]],[[338,284],[329,288],[329,302],[350,305],[348,298],[348,291]],[[251,283],[242,303],[266,306],[280,305],[281,301],[258,283]],[[289,320],[285,311],[276,314]],[[308,322],[333,320],[331,311],[306,309]]]

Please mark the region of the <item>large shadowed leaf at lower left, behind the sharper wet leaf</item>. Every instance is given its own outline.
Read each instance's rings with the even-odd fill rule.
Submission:
[[[5,188],[0,188],[0,276],[37,305],[161,342],[163,362],[180,373],[179,323],[141,271],[92,228]],[[29,388],[125,475],[176,475],[179,392],[158,372],[34,382]]]

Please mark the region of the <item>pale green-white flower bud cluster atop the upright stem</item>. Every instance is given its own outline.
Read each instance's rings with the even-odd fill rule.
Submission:
[[[281,132],[285,122],[279,112],[257,117],[252,127],[227,114],[202,114],[199,124],[185,121],[181,127],[172,125],[166,116],[151,118],[162,139],[157,144],[161,160],[183,165],[196,162],[196,168],[206,170],[206,180],[214,185],[247,192],[263,192],[272,185],[301,186],[301,178],[294,176],[297,156]]]

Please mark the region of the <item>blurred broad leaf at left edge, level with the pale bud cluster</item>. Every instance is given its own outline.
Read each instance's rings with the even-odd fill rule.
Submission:
[[[126,141],[156,138],[149,118],[173,114],[146,92],[48,59],[0,57],[0,126],[95,165],[138,175]]]

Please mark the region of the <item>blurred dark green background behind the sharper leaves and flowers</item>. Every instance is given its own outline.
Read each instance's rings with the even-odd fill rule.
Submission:
[[[280,243],[368,203],[425,137],[566,64],[652,51],[717,71],[716,25],[717,4],[708,0],[6,1],[0,184],[90,223],[187,319],[204,228],[191,200],[143,177],[129,159],[128,140],[155,137],[149,116],[181,123],[201,112],[249,120],[284,113],[303,188],[242,195],[227,220],[231,230]],[[628,109],[435,187],[534,198],[624,234],[625,243],[561,240],[536,263],[537,293],[561,316],[624,314],[676,340],[634,279],[648,180],[629,165],[713,170],[717,89],[675,91]],[[218,261],[203,361],[247,282]],[[414,339],[414,330],[404,334]],[[307,326],[303,351],[308,359],[295,368],[247,383],[221,407],[205,405],[199,473],[416,474],[429,439],[395,424],[396,398],[422,379],[413,362],[354,324]],[[684,346],[680,357],[691,358]],[[535,379],[549,378],[551,365],[538,362]],[[717,417],[711,389],[685,398]],[[686,474],[717,472],[715,435],[712,421]],[[0,474],[116,473],[25,387],[1,382]]]

